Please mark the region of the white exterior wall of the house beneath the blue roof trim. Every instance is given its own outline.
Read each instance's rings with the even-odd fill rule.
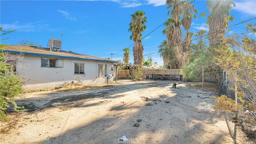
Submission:
[[[75,62],[84,63],[85,74],[74,74]],[[52,89],[65,82],[76,82],[77,77],[84,85],[106,83],[106,77],[98,77],[99,64],[107,65],[107,74],[115,74],[116,69],[110,62],[63,59],[63,68],[45,68],[41,67],[41,57],[27,55],[18,61],[17,73],[23,77],[25,90]]]

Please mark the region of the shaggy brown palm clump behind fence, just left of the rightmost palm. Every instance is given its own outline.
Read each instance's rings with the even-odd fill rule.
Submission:
[[[173,47],[172,56],[177,62],[177,68],[180,68],[185,66],[186,63],[189,61],[188,54],[191,50],[191,42],[185,42],[190,41],[191,36],[193,35],[192,33],[189,33],[188,30],[191,26],[192,18],[196,18],[195,14],[197,13],[197,10],[195,9],[195,6],[188,1],[167,0],[166,5],[167,9],[169,9],[168,14],[172,15],[172,21],[168,20],[165,23],[166,29],[163,30],[163,34],[167,35],[167,42],[168,44],[170,44],[171,47]],[[185,44],[179,45],[182,38],[181,26],[183,26],[187,33],[182,41]]]

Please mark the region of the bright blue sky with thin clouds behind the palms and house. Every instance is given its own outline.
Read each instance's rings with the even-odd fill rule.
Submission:
[[[235,23],[256,17],[256,1],[235,1],[231,10]],[[199,13],[207,12],[206,1],[193,3]],[[49,38],[61,39],[62,49],[77,53],[109,58],[110,53],[121,51],[133,42],[128,31],[131,15],[137,10],[145,11],[148,19],[147,30],[143,35],[161,25],[167,18],[165,1],[1,1],[1,27],[5,30],[17,30],[6,35],[4,44],[17,45],[27,40],[47,47]],[[193,20],[190,31],[208,30],[206,18]],[[244,24],[230,30],[241,32]],[[164,27],[158,28],[143,39],[144,54],[158,50],[165,39]],[[131,57],[132,54],[132,47]],[[113,55],[113,59],[122,59],[123,54]],[[154,62],[163,65],[159,54],[152,54]],[[146,56],[147,59],[147,56]]]

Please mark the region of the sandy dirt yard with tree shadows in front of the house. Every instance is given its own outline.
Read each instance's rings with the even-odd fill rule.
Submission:
[[[239,126],[212,109],[214,89],[170,81],[26,94],[29,112],[11,113],[0,143],[251,143]],[[201,98],[199,98],[199,97]],[[149,98],[149,101],[145,101]]]

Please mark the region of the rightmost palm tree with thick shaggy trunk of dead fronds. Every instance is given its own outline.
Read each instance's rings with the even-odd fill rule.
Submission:
[[[214,50],[223,38],[225,34],[225,28],[228,26],[228,21],[234,21],[232,15],[229,15],[229,12],[232,8],[232,5],[235,6],[235,3],[231,0],[226,1],[217,1],[217,0],[208,0],[207,8],[210,12],[208,19],[209,23],[209,41],[210,49]],[[218,31],[217,33],[214,33]],[[214,34],[213,34],[214,33]]]

